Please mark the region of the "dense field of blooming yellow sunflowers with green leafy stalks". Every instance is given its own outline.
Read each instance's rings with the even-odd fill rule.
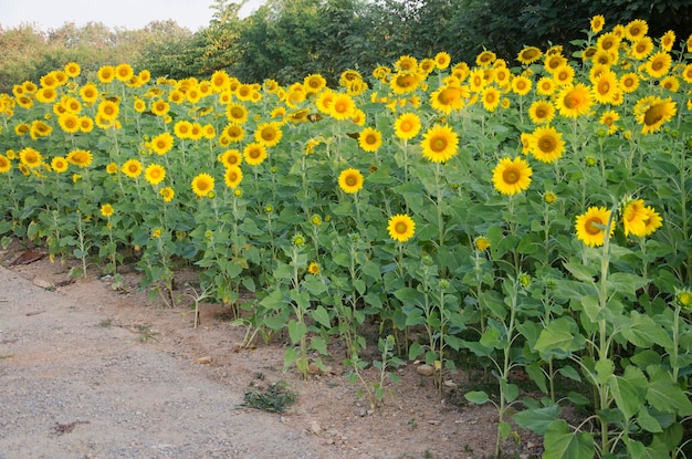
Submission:
[[[692,36],[605,25],[574,55],[403,55],[334,88],[70,62],[0,95],[2,243],[135,264],[168,304],[195,267],[244,344],[285,332],[307,374],[338,338],[374,404],[399,357],[440,390],[472,362],[499,455],[518,426],[546,458],[686,457]]]

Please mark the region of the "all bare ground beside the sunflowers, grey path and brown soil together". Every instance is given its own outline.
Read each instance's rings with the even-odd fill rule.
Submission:
[[[149,301],[134,272],[116,291],[96,269],[69,282],[46,257],[11,265],[21,253],[0,251],[0,459],[493,455],[496,413],[460,401],[463,372],[440,399],[408,363],[373,410],[340,357],[303,380],[282,373],[281,338],[239,351],[244,330],[218,305],[201,305],[195,330],[189,306]],[[297,394],[285,413],[243,406],[252,386],[279,380]],[[538,457],[541,440],[523,432],[505,451]]]

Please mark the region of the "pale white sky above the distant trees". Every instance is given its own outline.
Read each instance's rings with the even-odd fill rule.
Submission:
[[[66,22],[76,27],[103,22],[111,29],[136,30],[151,21],[172,19],[195,32],[209,25],[213,3],[213,0],[0,0],[0,25],[11,29],[30,23],[48,31]],[[241,18],[261,3],[262,0],[250,0],[241,9]]]

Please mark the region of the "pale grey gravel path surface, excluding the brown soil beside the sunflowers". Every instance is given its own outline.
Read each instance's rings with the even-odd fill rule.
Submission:
[[[0,267],[0,458],[331,458],[107,309]],[[340,455],[338,455],[340,457]]]

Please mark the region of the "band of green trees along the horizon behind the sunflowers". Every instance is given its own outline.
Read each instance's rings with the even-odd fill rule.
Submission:
[[[176,79],[224,69],[247,82],[287,83],[308,73],[333,82],[346,69],[367,73],[402,54],[447,51],[452,62],[471,63],[487,49],[512,61],[524,45],[584,39],[595,14],[607,25],[646,19],[653,38],[673,30],[686,39],[692,23],[689,0],[268,0],[240,18],[242,4],[216,0],[209,25],[195,33],[174,21],[136,31],[101,23],[48,32],[0,25],[0,91],[69,61],[86,72],[129,62]]]

